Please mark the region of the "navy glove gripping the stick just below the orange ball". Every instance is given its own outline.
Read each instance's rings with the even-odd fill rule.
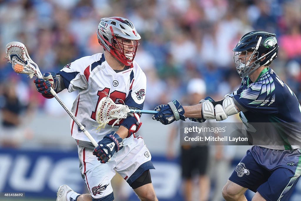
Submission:
[[[54,80],[53,77],[55,77],[56,74],[54,72],[44,73],[43,79],[37,78],[33,80],[33,82],[36,84],[36,88],[38,92],[40,92],[45,98],[53,98],[52,94],[50,93],[50,87],[53,87]]]

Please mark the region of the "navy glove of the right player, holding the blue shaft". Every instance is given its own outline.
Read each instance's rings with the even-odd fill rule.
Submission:
[[[158,105],[154,110],[160,112],[155,114],[153,119],[160,121],[164,125],[171,124],[172,122],[180,119],[185,121],[185,111],[178,100],[173,100],[167,105]]]

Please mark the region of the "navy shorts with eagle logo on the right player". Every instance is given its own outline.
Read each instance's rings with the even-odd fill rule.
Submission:
[[[301,175],[301,148],[249,149],[229,180],[259,192],[268,201],[288,200]]]

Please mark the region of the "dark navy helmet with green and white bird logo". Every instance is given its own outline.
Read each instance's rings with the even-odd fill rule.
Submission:
[[[274,33],[252,31],[241,37],[233,48],[236,70],[241,78],[277,57],[279,46],[275,36]]]

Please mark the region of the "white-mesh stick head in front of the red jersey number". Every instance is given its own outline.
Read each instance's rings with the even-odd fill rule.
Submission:
[[[116,105],[109,96],[102,98],[96,111],[96,121],[99,124],[96,130],[104,128],[109,121],[115,119],[113,127],[121,119],[126,118],[129,111],[130,109],[127,105]]]

